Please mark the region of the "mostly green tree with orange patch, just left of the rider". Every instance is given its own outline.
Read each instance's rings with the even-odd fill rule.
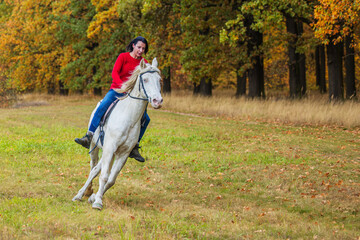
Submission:
[[[127,33],[119,27],[117,7],[112,1],[71,1],[71,14],[62,16],[57,37],[67,47],[67,64],[61,80],[69,89],[102,95],[102,88],[109,88],[112,67],[125,49]]]

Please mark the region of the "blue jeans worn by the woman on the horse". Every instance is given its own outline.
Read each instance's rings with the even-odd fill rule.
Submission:
[[[93,119],[91,120],[89,131],[95,132],[98,128],[101,118],[106,113],[107,109],[113,103],[118,97],[124,96],[125,93],[117,93],[113,89],[110,89],[109,92],[105,95],[104,99],[101,101],[99,107],[96,109],[96,112],[93,116]],[[142,136],[145,133],[145,130],[147,126],[149,125],[150,117],[147,115],[147,112],[145,110],[143,117],[141,118],[141,129],[140,129],[140,136],[139,136],[139,142],[142,138]]]

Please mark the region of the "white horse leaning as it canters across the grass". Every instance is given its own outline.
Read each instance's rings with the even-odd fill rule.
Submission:
[[[79,190],[73,201],[81,200],[88,188],[91,188],[92,180],[99,174],[99,189],[92,194],[89,203],[92,207],[101,210],[102,198],[105,192],[115,184],[115,180],[124,167],[131,150],[136,145],[140,134],[140,120],[144,114],[147,102],[152,107],[160,108],[163,102],[160,87],[160,71],[157,68],[157,60],[154,58],[152,65],[141,60],[129,80],[123,84],[118,92],[128,92],[128,97],[120,100],[104,125],[105,138],[103,145],[96,141],[99,137],[99,128],[95,131],[90,144],[90,174],[85,185]],[[94,109],[91,118],[94,115]],[[90,118],[90,122],[91,122]],[[89,123],[90,124],[90,123]],[[99,160],[99,148],[102,148],[102,157]]]

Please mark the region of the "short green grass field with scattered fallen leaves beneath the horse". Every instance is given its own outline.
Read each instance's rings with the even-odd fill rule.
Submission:
[[[353,125],[149,109],[147,161],[128,160],[102,211],[72,202],[97,100],[0,109],[0,239],[360,238]]]

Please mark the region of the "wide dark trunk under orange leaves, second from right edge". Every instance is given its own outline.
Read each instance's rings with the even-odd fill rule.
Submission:
[[[334,45],[333,41],[327,45],[327,65],[329,79],[329,99],[341,100],[344,98],[343,88],[343,43]]]

